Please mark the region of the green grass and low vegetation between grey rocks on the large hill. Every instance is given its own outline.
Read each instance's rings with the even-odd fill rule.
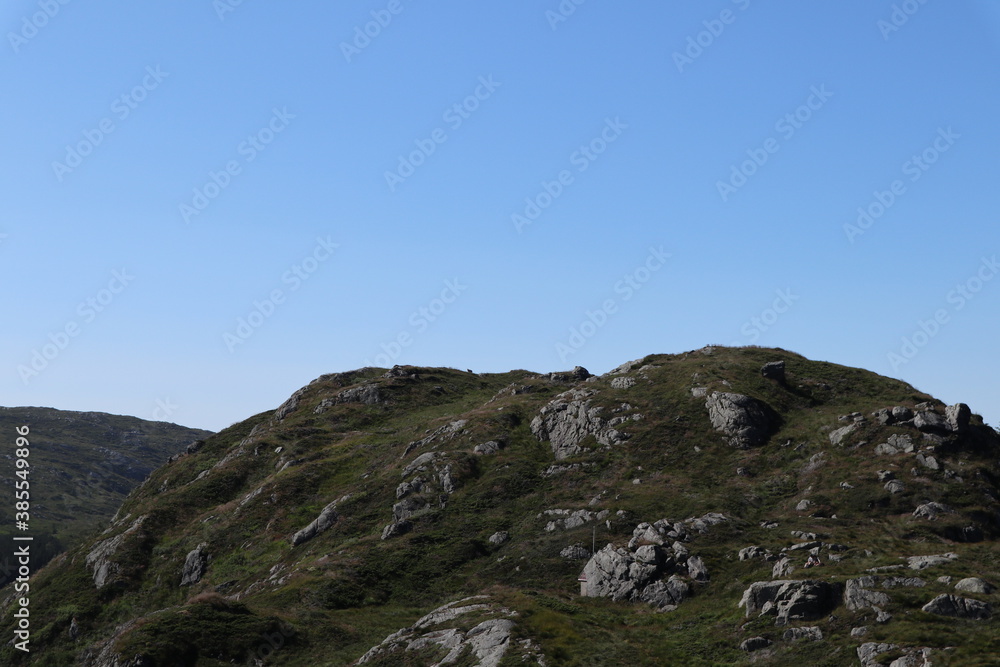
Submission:
[[[763,363],[777,359],[788,364],[785,387],[759,374]],[[570,385],[524,371],[474,375],[411,369],[416,379],[377,379],[390,398],[385,405],[344,404],[317,415],[314,410],[324,398],[376,380],[382,371],[324,376],[305,389],[298,408],[283,422],[269,426],[272,413],[264,413],[235,425],[210,438],[197,454],[157,470],[125,501],[119,514],[126,518],[109,535],[135,517],[147,519],[122,549],[117,584],[94,589],[83,564],[87,549],[46,568],[33,583],[33,664],[70,664],[82,645],[141,618],[118,645],[125,655],[142,653],[157,664],[174,664],[168,656],[179,652],[190,664],[242,664],[248,652],[259,652],[268,637],[280,635],[282,648],[268,664],[346,665],[437,605],[480,592],[517,610],[519,632],[541,643],[553,665],[743,664],[748,657],[736,647],[756,634],[776,640],[767,664],[854,664],[859,641],[849,632],[862,623],[872,629],[865,641],[959,647],[953,664],[987,664],[977,660],[990,649],[1000,650],[991,639],[995,622],[942,622],[919,611],[946,592],[935,581],[940,574],[1000,582],[994,542],[956,544],[946,538],[949,528],[971,523],[993,535],[995,451],[941,457],[946,468],[963,477],[959,483],[943,471],[913,477],[908,465],[899,466],[903,459],[877,459],[871,446],[852,448],[861,440],[883,442],[905,429],[869,423],[843,448],[832,447],[827,437],[830,428],[842,425],[840,415],[913,406],[930,397],[898,381],[780,350],[715,348],[708,355],[657,355],[645,362],[655,366],[649,380],[639,379],[630,389],[611,389],[610,378],[582,385],[599,390],[595,402],[607,406],[608,416],[626,401],[644,415],[622,427],[631,439],[609,451],[595,447],[568,459],[563,463],[596,465],[552,477],[541,475],[553,463],[548,443],[538,442],[528,424]],[[532,390],[490,402],[511,383]],[[692,386],[754,396],[781,416],[781,424],[768,444],[732,449],[711,429],[704,399],[692,397]],[[467,433],[404,456],[408,443],[458,418],[469,420]],[[988,441],[995,445],[992,430],[976,418],[974,423],[973,430],[983,439],[993,438]],[[258,425],[262,432],[243,447],[243,455],[212,469]],[[471,454],[476,444],[492,439],[506,441],[506,448],[496,456]],[[432,449],[448,452],[456,491],[443,509],[414,517],[412,532],[382,541],[402,468]],[[819,452],[826,453],[826,463],[805,472]],[[276,472],[276,464],[288,460],[293,465]],[[893,465],[906,484],[898,495],[875,479],[876,470]],[[737,467],[750,475],[736,476]],[[640,484],[632,483],[636,478]],[[854,488],[840,488],[844,481]],[[348,493],[351,498],[338,506],[341,518],[333,527],[291,547],[291,534]],[[589,501],[599,494],[602,499],[591,507]],[[829,518],[795,511],[804,497],[816,503],[816,514]],[[963,513],[935,524],[913,519],[913,508],[928,500]],[[537,515],[549,508],[610,509],[613,520],[610,529],[599,525],[598,546],[627,541],[640,521],[709,511],[735,521],[691,544],[705,559],[711,582],[678,611],[656,614],[644,605],[575,595],[583,562],[558,554],[577,542],[589,547],[592,527],[547,533]],[[617,516],[618,510],[624,515]],[[763,519],[780,527],[761,528]],[[498,530],[509,531],[511,541],[489,545],[486,538]],[[751,544],[777,551],[793,543],[790,530],[825,533],[827,541],[851,547],[841,563],[810,572],[834,581],[898,563],[899,556],[954,551],[961,558],[922,573],[927,588],[893,592],[891,623],[875,626],[863,613],[838,608],[818,622],[826,641],[788,647],[777,641],[781,629],[771,621],[747,620],[736,608],[743,590],[753,581],[769,580],[771,569],[764,561],[739,562],[736,552]],[[201,542],[212,554],[208,572],[195,587],[180,588],[185,554]],[[239,601],[190,599],[210,591]],[[81,631],[76,644],[67,633],[73,617]],[[9,634],[9,615],[3,625]],[[9,647],[0,648],[5,664],[21,664],[19,659]],[[505,664],[520,664],[520,659],[511,652]]]

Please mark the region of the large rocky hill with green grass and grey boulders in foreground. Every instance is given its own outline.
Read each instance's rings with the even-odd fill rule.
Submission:
[[[324,375],[38,573],[30,660],[996,664],[998,454],[964,404],[784,350]]]

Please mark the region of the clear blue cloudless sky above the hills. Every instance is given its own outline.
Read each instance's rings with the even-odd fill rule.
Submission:
[[[363,365],[712,343],[1000,422],[996,2],[11,0],[0,26],[2,405],[217,430]]]

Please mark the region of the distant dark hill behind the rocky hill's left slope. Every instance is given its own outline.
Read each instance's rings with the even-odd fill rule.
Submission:
[[[16,428],[30,428],[32,566],[107,523],[167,458],[210,431],[136,417],[52,408],[0,408],[0,585],[11,579]]]

